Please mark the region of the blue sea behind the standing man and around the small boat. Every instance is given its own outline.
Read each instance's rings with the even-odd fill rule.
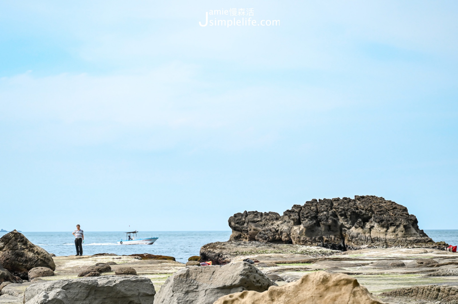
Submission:
[[[6,232],[0,232],[3,236]],[[458,244],[458,230],[425,230],[434,241]],[[33,244],[43,247],[56,256],[75,254],[74,237],[70,232],[22,232]],[[187,262],[198,256],[200,248],[211,242],[227,241],[231,231],[141,231],[138,238],[158,237],[153,245],[117,245],[125,239],[123,232],[84,232],[83,254],[115,253],[117,255],[151,253],[175,257],[178,262]]]

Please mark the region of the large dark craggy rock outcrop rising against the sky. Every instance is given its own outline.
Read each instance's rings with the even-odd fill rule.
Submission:
[[[337,250],[368,247],[443,249],[420,230],[415,215],[391,200],[373,195],[354,199],[312,199],[283,215],[250,211],[229,218],[230,241],[322,246]]]

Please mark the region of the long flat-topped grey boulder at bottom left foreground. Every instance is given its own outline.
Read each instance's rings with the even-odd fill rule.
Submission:
[[[149,278],[102,276],[32,284],[24,299],[25,302],[34,299],[40,304],[48,303],[39,302],[46,297],[60,297],[63,302],[56,301],[56,304],[153,304],[155,294]],[[63,300],[65,296],[67,302]]]

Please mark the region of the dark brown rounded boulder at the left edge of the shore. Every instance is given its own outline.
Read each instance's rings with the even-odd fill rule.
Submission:
[[[55,270],[53,258],[46,250],[33,245],[16,230],[0,238],[0,264],[11,274],[27,279],[33,267],[47,267]]]

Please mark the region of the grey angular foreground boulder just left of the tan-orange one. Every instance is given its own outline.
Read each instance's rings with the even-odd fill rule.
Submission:
[[[187,266],[167,278],[154,304],[212,304],[216,299],[243,290],[267,290],[276,285],[246,262],[224,266]]]

